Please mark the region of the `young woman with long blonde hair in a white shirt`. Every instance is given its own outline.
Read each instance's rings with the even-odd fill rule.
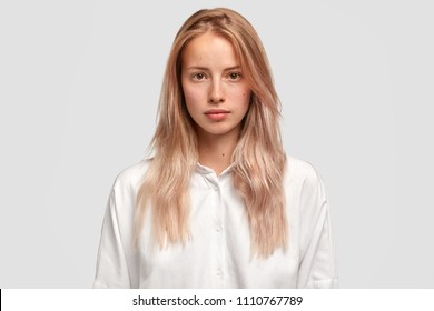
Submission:
[[[323,182],[285,156],[279,116],[250,23],[194,13],[170,51],[155,156],[115,181],[93,287],[336,287]]]

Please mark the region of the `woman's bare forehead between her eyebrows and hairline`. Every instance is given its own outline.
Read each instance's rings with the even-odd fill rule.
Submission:
[[[223,66],[239,64],[234,46],[226,38],[206,32],[187,43],[181,56],[183,67],[187,66]]]

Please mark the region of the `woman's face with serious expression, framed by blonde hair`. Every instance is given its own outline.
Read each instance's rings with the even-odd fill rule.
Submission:
[[[207,32],[193,39],[181,57],[184,96],[198,136],[238,134],[250,88],[231,43]]]

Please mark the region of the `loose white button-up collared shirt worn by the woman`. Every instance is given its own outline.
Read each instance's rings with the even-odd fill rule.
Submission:
[[[147,217],[132,245],[135,198],[150,160],[125,169],[112,187],[93,288],[335,288],[337,274],[324,185],[307,162],[288,157],[285,174],[288,248],[250,253],[245,204],[230,167],[219,175],[197,164],[190,182],[191,239],[152,247]]]

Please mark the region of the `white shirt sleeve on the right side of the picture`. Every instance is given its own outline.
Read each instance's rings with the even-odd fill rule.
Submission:
[[[331,215],[324,183],[310,167],[300,193],[298,288],[337,288]]]

